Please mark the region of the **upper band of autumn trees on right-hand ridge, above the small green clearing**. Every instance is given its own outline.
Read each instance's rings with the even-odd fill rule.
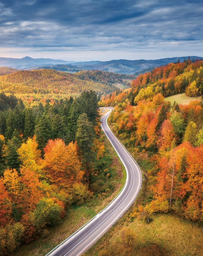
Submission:
[[[136,105],[140,100],[152,100],[161,93],[164,97],[186,92],[189,97],[203,95],[203,61],[170,63],[149,73],[141,74],[131,83],[131,89],[104,96],[99,106],[114,106],[129,100]]]

